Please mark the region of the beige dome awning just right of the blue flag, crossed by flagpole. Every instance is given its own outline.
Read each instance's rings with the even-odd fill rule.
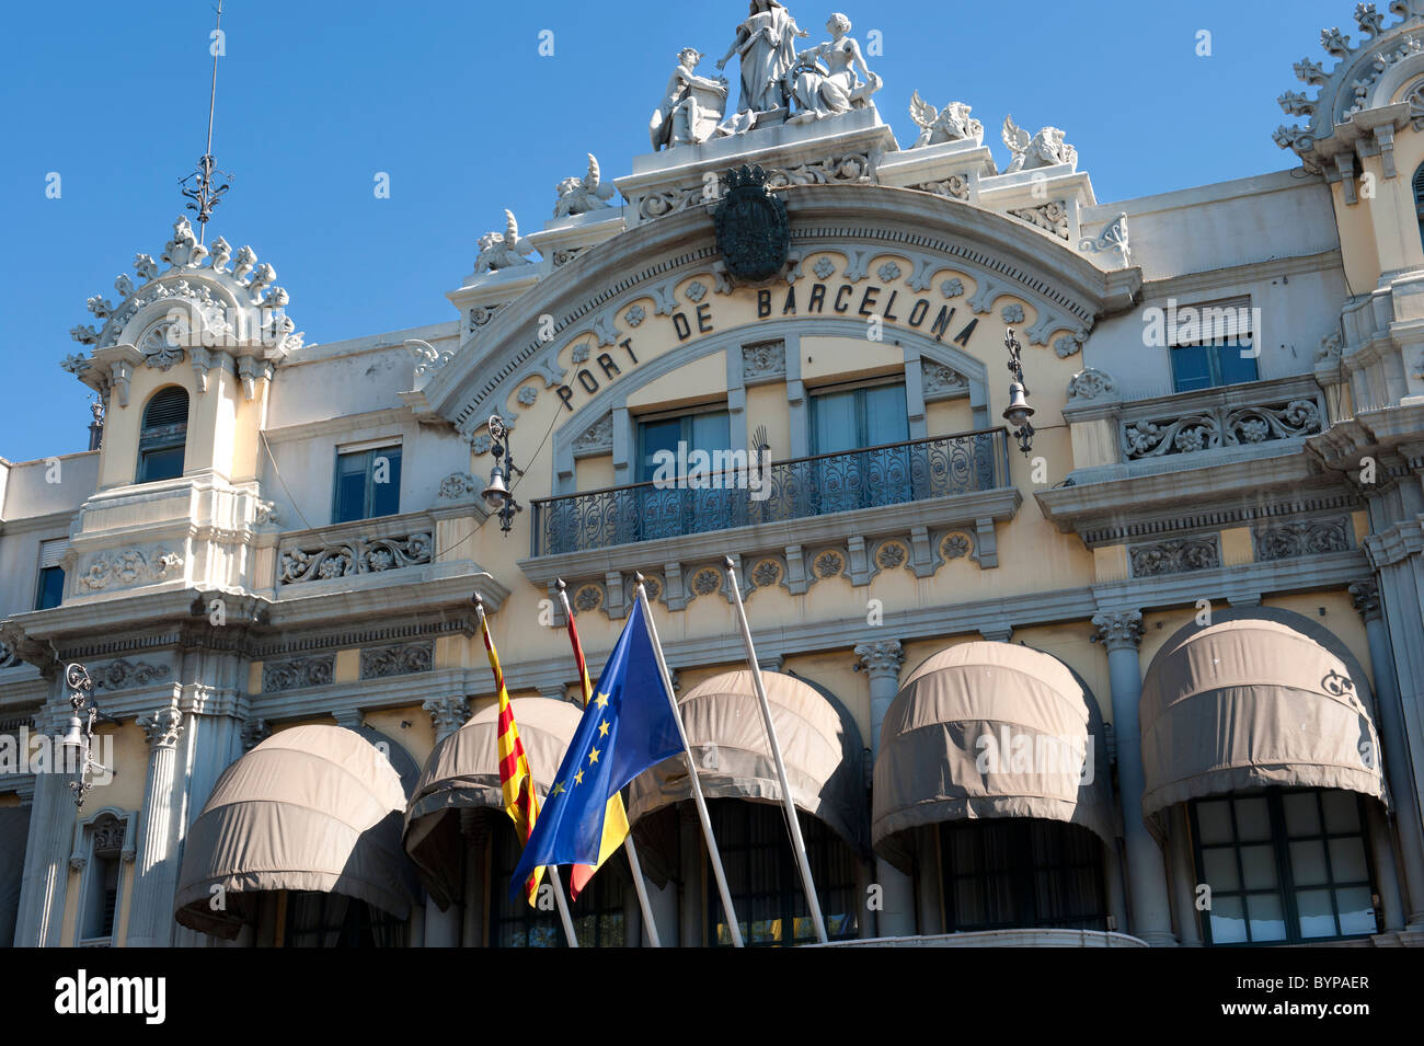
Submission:
[[[826,692],[797,676],[763,672],[772,723],[782,746],[792,801],[866,854],[866,784],[860,731]],[[776,763],[750,672],[726,672],[678,700],[698,780],[708,798],[782,803]],[[664,760],[629,786],[628,820],[639,820],[692,797],[682,757]],[[639,833],[658,847],[646,828]],[[664,844],[665,847],[665,844]],[[668,854],[652,854],[651,874],[671,871]]]

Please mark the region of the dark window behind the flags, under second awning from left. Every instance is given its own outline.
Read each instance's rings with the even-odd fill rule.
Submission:
[[[520,862],[520,841],[507,818],[493,827],[494,875],[490,882],[491,948],[564,948],[564,926],[558,911],[530,908],[523,892],[510,899],[510,875]],[[548,882],[548,879],[544,879]],[[564,877],[568,889],[568,877]],[[624,921],[624,887],[632,885],[627,858],[618,854],[604,862],[592,881],[572,902],[574,935],[580,948],[622,948],[628,944]],[[543,887],[541,887],[543,889]],[[568,894],[565,894],[568,897]]]

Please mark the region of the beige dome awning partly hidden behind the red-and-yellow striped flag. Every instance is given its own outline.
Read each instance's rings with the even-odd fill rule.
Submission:
[[[540,796],[558,773],[581,712],[570,702],[550,697],[515,697],[510,702],[530,773]],[[470,717],[453,734],[436,744],[406,811],[404,845],[420,870],[426,891],[443,908],[459,899],[460,808],[496,810],[503,817],[500,790],[498,704]]]

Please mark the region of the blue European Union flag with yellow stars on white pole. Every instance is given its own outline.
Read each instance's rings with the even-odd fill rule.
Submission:
[[[600,854],[621,845],[628,827],[605,824],[609,800],[644,770],[681,751],[682,737],[638,601],[510,877],[510,897],[518,897],[534,868],[597,865]],[[608,831],[621,833],[619,838],[607,838]]]

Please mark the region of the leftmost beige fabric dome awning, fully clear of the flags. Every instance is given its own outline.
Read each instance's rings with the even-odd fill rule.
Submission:
[[[188,830],[175,916],[231,939],[256,912],[252,894],[318,889],[404,919],[414,891],[400,850],[404,808],[400,776],[360,734],[281,730],[222,771]]]

